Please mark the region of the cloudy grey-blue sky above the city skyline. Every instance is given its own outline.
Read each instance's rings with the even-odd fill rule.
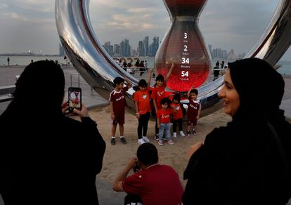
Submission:
[[[72,0],[77,1],[77,0]],[[279,0],[209,0],[199,20],[205,44],[248,53],[266,29]],[[133,49],[162,37],[170,18],[162,0],[91,0],[90,18],[102,44],[129,39]],[[0,0],[0,53],[58,54],[53,0]],[[282,60],[291,60],[291,48]]]

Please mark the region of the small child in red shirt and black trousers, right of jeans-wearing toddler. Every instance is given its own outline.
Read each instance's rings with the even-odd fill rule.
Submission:
[[[181,96],[179,93],[176,93],[173,97],[173,102],[171,104],[172,110],[173,110],[173,137],[177,138],[176,133],[176,125],[179,126],[179,131],[181,137],[185,137],[185,134],[183,133],[183,126],[182,126],[182,119],[183,119],[183,105],[180,102]]]

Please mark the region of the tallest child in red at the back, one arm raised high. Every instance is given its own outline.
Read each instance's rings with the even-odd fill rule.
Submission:
[[[158,74],[155,78],[156,84],[153,88],[152,95],[150,96],[153,99],[153,105],[155,107],[155,113],[157,114],[157,110],[162,108],[160,101],[164,98],[164,89],[167,87],[167,81],[172,73],[175,62],[172,62],[172,66],[167,73],[167,76],[164,78],[162,74]],[[157,127],[157,120],[155,121],[155,140],[159,140],[159,128]]]

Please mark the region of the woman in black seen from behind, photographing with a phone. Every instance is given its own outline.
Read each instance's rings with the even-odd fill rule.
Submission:
[[[79,121],[65,117],[64,94],[63,70],[51,61],[30,63],[16,82],[15,98],[0,116],[6,205],[98,204],[105,142],[84,105],[74,110]]]

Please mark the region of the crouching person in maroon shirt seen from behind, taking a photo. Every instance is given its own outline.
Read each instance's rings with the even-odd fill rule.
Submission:
[[[140,145],[137,157],[141,171],[126,178],[137,162],[136,158],[130,159],[124,171],[115,179],[113,190],[138,195],[141,197],[141,203],[145,205],[181,204],[183,187],[179,176],[171,166],[157,164],[155,145],[150,143]]]

